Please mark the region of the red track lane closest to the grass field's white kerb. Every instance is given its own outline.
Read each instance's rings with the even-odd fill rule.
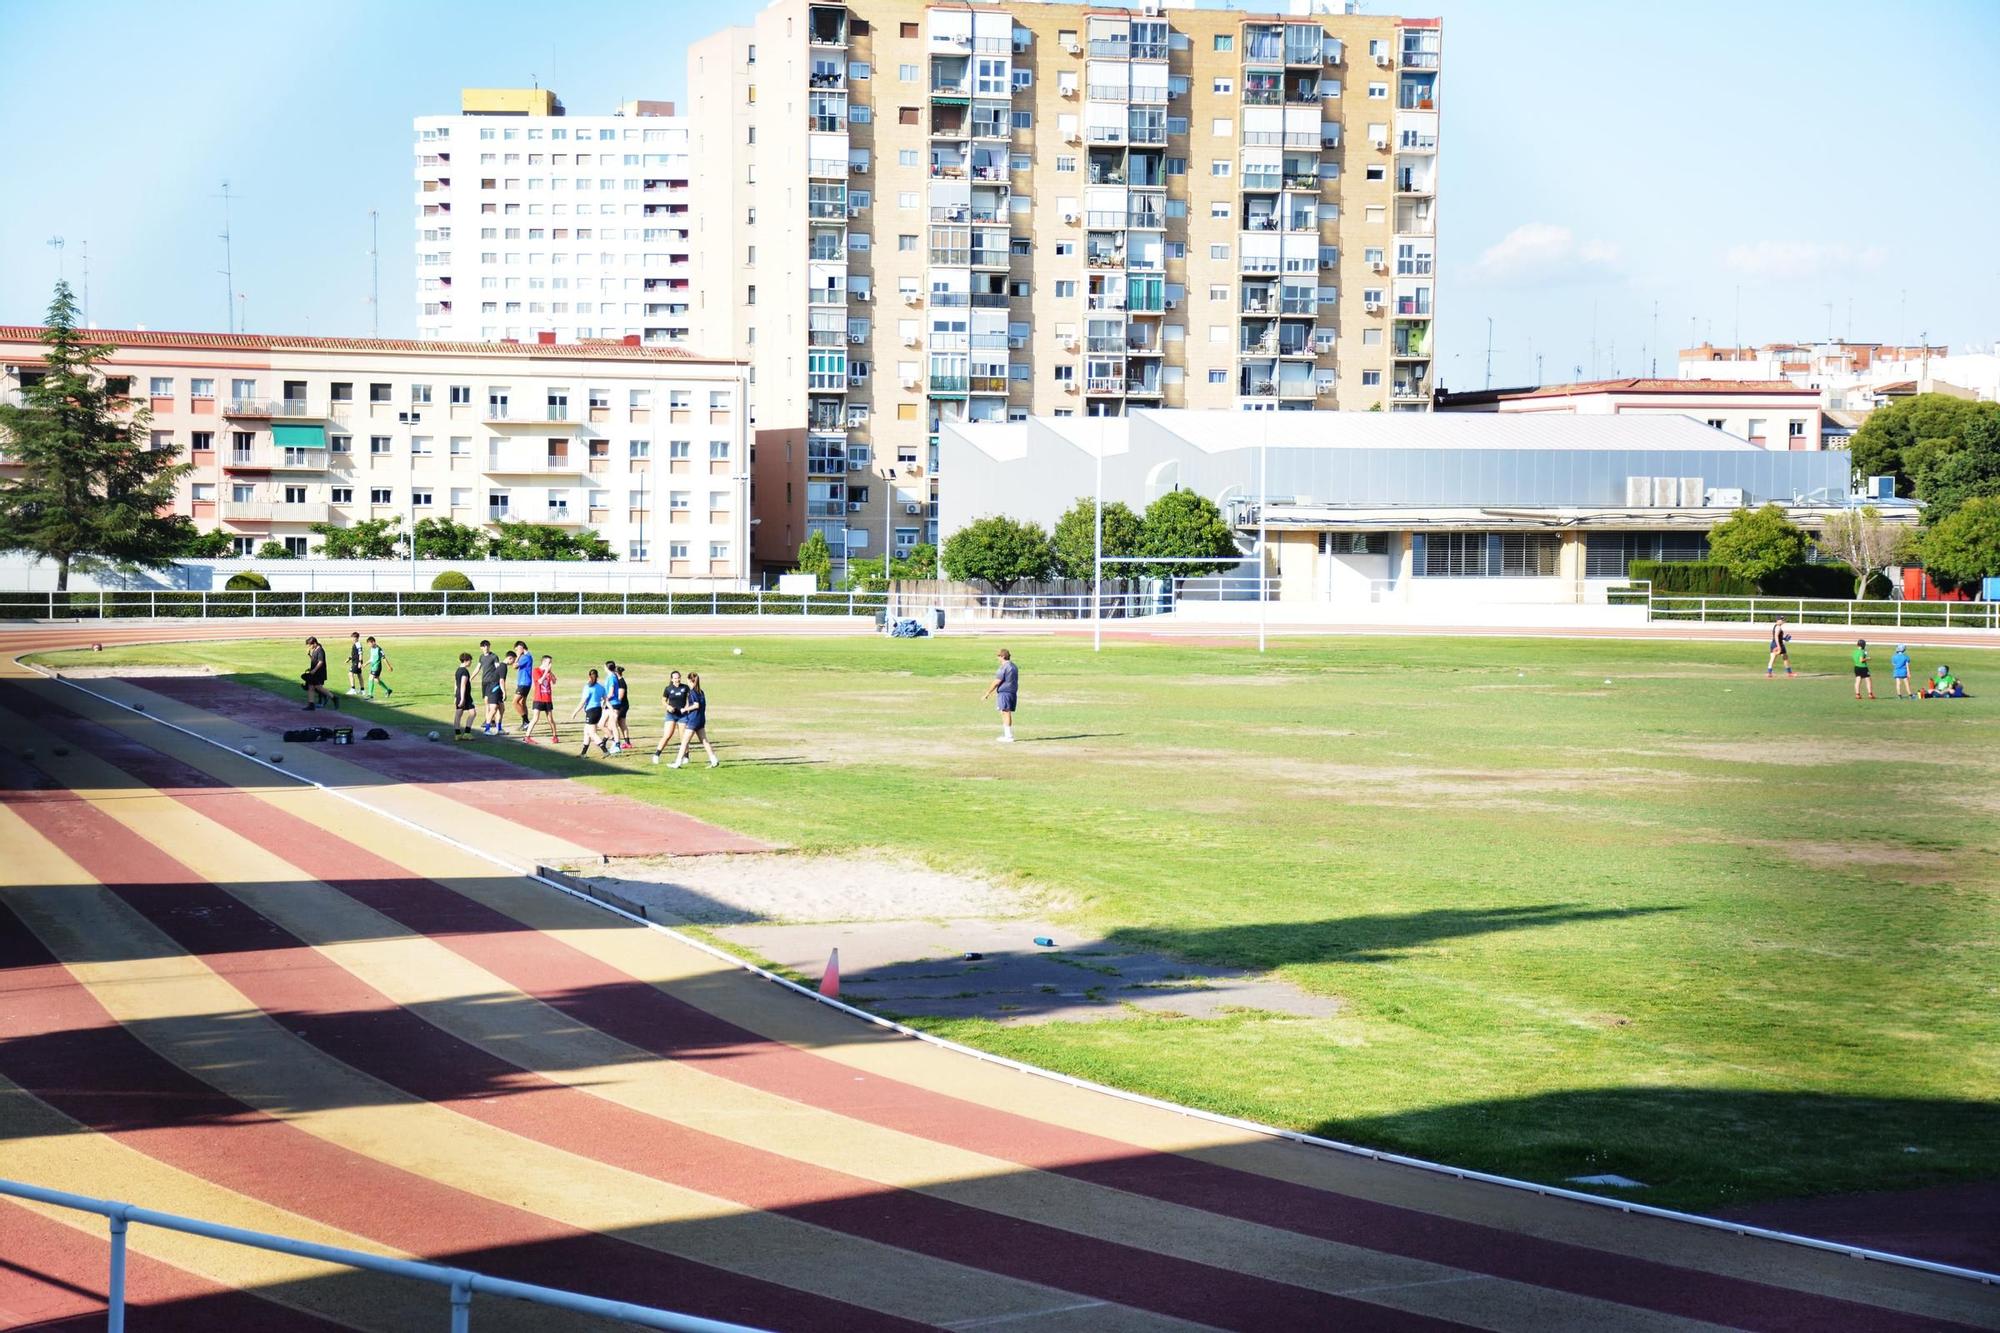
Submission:
[[[62,721],[68,725],[74,719]],[[580,1023],[666,1059],[702,1059],[708,1073],[790,1101],[1224,1217],[1730,1327],[1772,1333],[1830,1327],[1870,1333],[1960,1327],[1808,1291],[1526,1237],[1238,1173],[1198,1159],[1140,1153],[1112,1139],[990,1111],[914,1085],[876,1077],[856,1079],[846,1065],[766,1041],[560,941],[528,931],[482,903],[442,885],[410,879],[406,871],[374,853],[250,797],[242,797],[240,803],[218,797],[212,785],[176,795],[252,841],[284,847],[286,861],[314,879],[412,931],[438,939],[524,995],[542,999]]]

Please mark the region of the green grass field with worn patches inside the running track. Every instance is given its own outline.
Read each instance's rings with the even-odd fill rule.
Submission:
[[[1014,747],[978,699],[986,638],[550,638],[566,697],[590,660],[634,664],[644,735],[666,664],[700,669],[724,767],[504,753],[796,847],[1030,881],[1084,937],[1344,1003],[932,1023],[1054,1069],[1680,1207],[2000,1175],[2000,654],[1950,654],[1978,699],[1856,705],[1842,646],[1768,683],[1746,636],[1026,640]],[[446,719],[460,646],[394,644],[402,707],[374,713]],[[290,640],[82,656],[298,689]]]

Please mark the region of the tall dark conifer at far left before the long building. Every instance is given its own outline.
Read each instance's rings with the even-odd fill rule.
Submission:
[[[42,342],[42,378],[20,404],[0,404],[0,434],[20,472],[0,480],[0,550],[56,562],[56,590],[70,570],[96,564],[158,568],[192,536],[174,508],[190,464],[150,448],[150,412],[100,366],[116,348],[76,328],[76,298],[56,284]]]

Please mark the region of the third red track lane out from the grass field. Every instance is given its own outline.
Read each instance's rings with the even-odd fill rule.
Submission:
[[[0,1075],[148,1157],[424,1259],[760,1327],[922,1327],[578,1231],[276,1121],[140,1043],[12,913],[0,917]]]

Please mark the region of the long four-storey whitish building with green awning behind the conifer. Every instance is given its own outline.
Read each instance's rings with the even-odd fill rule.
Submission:
[[[38,326],[0,326],[0,394],[40,378]],[[408,342],[92,330],[148,408],[152,446],[194,464],[176,512],[308,556],[316,522],[422,518],[592,528],[622,564],[744,586],[744,366],[636,338]],[[6,466],[0,442],[0,468]]]

